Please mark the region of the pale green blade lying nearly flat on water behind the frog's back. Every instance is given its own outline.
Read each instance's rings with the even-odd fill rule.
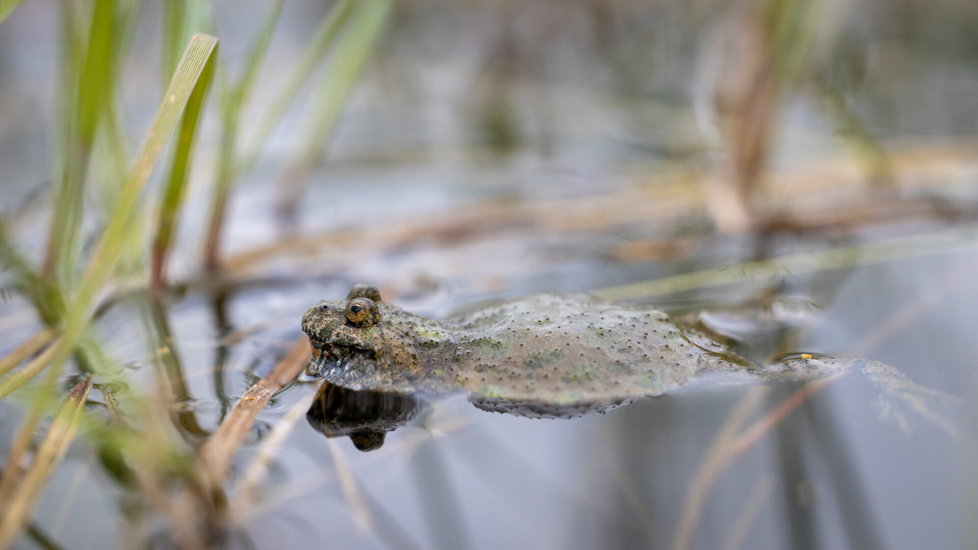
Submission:
[[[833,269],[846,269],[942,252],[955,252],[978,245],[978,225],[900,237],[877,243],[853,245],[828,251],[804,252],[728,267],[672,275],[652,281],[631,283],[592,291],[607,300],[670,295],[722,285],[770,279],[778,275],[802,275]]]

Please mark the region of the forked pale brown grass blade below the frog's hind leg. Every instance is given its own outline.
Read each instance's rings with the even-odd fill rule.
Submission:
[[[794,390],[784,398],[778,406],[772,409],[763,418],[756,421],[746,430],[740,432],[740,427],[746,421],[747,414],[756,406],[763,396],[764,390],[760,388],[748,392],[736,404],[733,412],[728,417],[720,433],[714,438],[713,445],[703,458],[696,476],[689,485],[686,495],[686,502],[683,504],[683,515],[680,518],[679,526],[676,527],[676,535],[673,538],[673,550],[686,550],[689,548],[689,541],[692,539],[692,530],[696,527],[699,513],[706,504],[706,493],[710,490],[713,482],[717,480],[724,468],[733,462],[733,459],[740,456],[745,450],[756,443],[763,435],[767,434],[778,423],[784,420],[788,414],[794,411],[807,401],[812,395],[822,390],[840,376],[835,376],[814,380],[806,383],[798,390]]]

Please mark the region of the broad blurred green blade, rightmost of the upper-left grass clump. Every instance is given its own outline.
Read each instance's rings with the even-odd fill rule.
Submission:
[[[390,6],[390,0],[362,0],[357,4],[356,13],[343,32],[343,39],[336,46],[332,63],[314,95],[310,115],[312,123],[305,146],[298,157],[292,160],[280,183],[281,206],[286,212],[294,211],[304,187],[306,173],[322,157],[333,134],[336,119],[374,49]]]

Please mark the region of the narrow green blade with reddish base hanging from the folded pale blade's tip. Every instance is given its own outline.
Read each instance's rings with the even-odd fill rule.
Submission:
[[[194,156],[194,138],[197,136],[200,110],[210,86],[211,76],[214,73],[213,69],[213,63],[204,64],[200,71],[198,83],[194,86],[194,90],[187,100],[187,107],[180,124],[180,133],[177,135],[176,146],[173,148],[170,172],[159,201],[156,238],[151,252],[152,269],[150,276],[151,288],[156,292],[161,292],[166,286],[166,258],[169,255],[170,247],[173,245],[177,218],[180,215],[180,207],[183,206],[183,199],[186,195],[187,173]]]

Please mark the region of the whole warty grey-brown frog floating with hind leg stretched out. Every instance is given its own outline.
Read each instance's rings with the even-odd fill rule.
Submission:
[[[467,392],[478,408],[571,418],[657,396],[691,382],[808,382],[859,371],[928,419],[932,398],[885,363],[793,353],[766,363],[737,354],[709,331],[641,304],[587,294],[541,294],[427,319],[354,286],[302,317],[310,374],[347,390]]]

